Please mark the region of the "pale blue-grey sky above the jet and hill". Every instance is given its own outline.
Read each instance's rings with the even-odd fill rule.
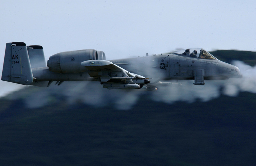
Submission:
[[[255,0],[0,2],[1,66],[5,44],[16,41],[43,46],[46,60],[79,49],[107,60],[191,47],[256,51]]]

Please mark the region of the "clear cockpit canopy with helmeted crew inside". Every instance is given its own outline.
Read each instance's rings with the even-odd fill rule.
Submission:
[[[192,58],[199,58],[199,59],[214,59],[217,60],[212,54],[205,51],[202,48],[190,48],[185,50],[179,50],[177,52],[174,52],[172,54],[176,54],[179,56],[187,56]]]

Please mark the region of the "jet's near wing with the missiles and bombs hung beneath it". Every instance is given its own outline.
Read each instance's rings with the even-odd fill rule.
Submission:
[[[150,82],[144,76],[130,73],[110,61],[83,61],[81,66],[85,66],[88,70],[88,74],[100,81],[104,88],[108,89],[140,89],[144,84]]]

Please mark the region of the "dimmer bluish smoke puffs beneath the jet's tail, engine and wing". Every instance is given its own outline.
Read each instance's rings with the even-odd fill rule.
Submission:
[[[14,92],[15,95],[9,95],[8,99],[22,98],[28,108],[39,108],[47,104],[54,104],[54,102],[63,102],[58,98],[64,97],[70,105],[82,102],[98,108],[111,104],[116,109],[128,110],[136,104],[141,93],[141,91],[130,89],[107,90],[99,82],[64,82],[61,86],[32,88],[35,88],[32,93],[21,92],[16,95]]]

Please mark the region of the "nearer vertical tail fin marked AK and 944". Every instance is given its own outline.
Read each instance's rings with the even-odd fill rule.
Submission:
[[[28,49],[25,43],[6,43],[1,80],[22,85],[29,85],[33,82]]]

